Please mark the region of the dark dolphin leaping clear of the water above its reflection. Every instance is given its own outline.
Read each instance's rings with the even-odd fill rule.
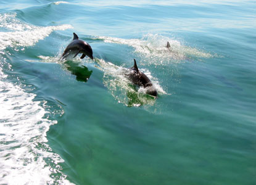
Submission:
[[[64,53],[62,54],[62,59],[67,57],[68,54],[75,54],[73,56],[75,58],[76,55],[82,53],[80,59],[83,59],[86,55],[88,55],[88,57],[93,60],[93,49],[91,49],[91,46],[85,41],[79,39],[75,33],[73,33],[73,35],[73,41],[66,47]]]

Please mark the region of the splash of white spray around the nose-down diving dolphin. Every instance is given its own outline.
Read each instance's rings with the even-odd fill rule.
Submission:
[[[146,89],[136,87],[126,77],[130,72],[127,68],[118,67],[111,62],[105,62],[103,59],[95,59],[99,65],[97,68],[104,72],[103,83],[109,89],[112,96],[119,103],[128,107],[139,107],[141,105],[154,105],[155,98],[146,94]],[[148,70],[140,69],[151,79],[152,84],[160,94],[167,94],[163,91],[157,78],[154,78]]]

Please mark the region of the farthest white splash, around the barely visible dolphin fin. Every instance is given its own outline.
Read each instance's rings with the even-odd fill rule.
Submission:
[[[98,38],[103,39],[105,43],[125,44],[134,47],[135,52],[142,54],[142,57],[155,59],[160,61],[160,63],[163,62],[163,60],[184,60],[189,57],[212,57],[212,54],[193,47],[184,46],[175,38],[168,38],[167,36],[158,34],[147,34],[144,35],[142,39],[122,39],[107,36],[99,36]],[[167,41],[170,43],[170,48],[166,47]]]

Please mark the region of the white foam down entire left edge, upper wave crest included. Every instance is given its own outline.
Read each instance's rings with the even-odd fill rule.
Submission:
[[[35,94],[20,88],[19,80],[10,83],[3,72],[4,66],[11,69],[3,49],[32,46],[70,25],[36,27],[15,14],[0,14],[0,23],[0,184],[72,184],[61,171],[64,160],[46,143],[49,126],[57,123],[46,118],[47,102],[36,101]]]

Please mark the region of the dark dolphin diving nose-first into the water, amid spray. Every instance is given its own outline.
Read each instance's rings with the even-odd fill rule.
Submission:
[[[138,86],[142,86],[143,88],[146,88],[147,94],[157,97],[157,90],[154,88],[151,80],[149,80],[149,78],[147,78],[147,76],[144,73],[139,71],[136,64],[136,60],[133,60],[134,65],[130,68],[131,72],[129,73],[128,78],[131,80],[132,83]]]

